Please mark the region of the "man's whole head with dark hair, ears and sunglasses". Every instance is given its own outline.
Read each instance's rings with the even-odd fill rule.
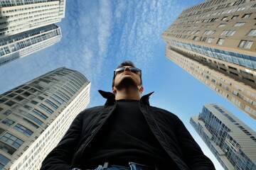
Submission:
[[[136,68],[133,62],[124,61],[114,70],[112,91],[115,94],[117,89],[130,87],[137,87],[140,92],[143,91],[142,70]]]

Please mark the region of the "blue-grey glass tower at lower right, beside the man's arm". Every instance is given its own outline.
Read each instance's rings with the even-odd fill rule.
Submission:
[[[206,104],[190,123],[225,170],[256,169],[256,132],[228,110]]]

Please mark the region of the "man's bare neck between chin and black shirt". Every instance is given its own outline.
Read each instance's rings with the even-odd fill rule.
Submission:
[[[138,89],[122,89],[120,91],[117,91],[115,99],[131,99],[139,101],[140,93]]]

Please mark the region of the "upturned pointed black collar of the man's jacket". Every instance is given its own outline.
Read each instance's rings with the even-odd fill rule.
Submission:
[[[101,94],[102,97],[107,98],[105,106],[114,105],[114,103],[116,102],[114,94],[107,92],[107,91],[102,91],[102,90],[99,90],[99,93]],[[154,91],[142,96],[139,101],[146,105],[149,105],[149,97],[153,93],[154,93]]]

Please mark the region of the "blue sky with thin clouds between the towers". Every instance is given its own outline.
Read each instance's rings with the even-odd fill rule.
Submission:
[[[111,91],[112,74],[124,60],[142,69],[144,94],[155,91],[151,105],[178,115],[203,152],[218,161],[189,124],[203,104],[227,108],[253,130],[255,120],[165,57],[161,33],[184,9],[201,0],[66,1],[60,23],[63,38],[55,45],[0,67],[0,94],[58,67],[81,72],[91,81],[91,106],[103,105],[97,93]]]

